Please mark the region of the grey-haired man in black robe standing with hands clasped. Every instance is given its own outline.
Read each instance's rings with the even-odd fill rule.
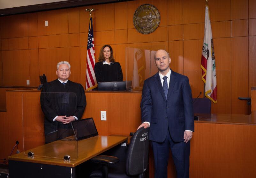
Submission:
[[[81,84],[68,80],[70,64],[57,64],[58,79],[45,83],[41,91],[44,113],[45,142],[50,143],[73,134],[71,122],[81,119],[85,106],[85,91]]]

